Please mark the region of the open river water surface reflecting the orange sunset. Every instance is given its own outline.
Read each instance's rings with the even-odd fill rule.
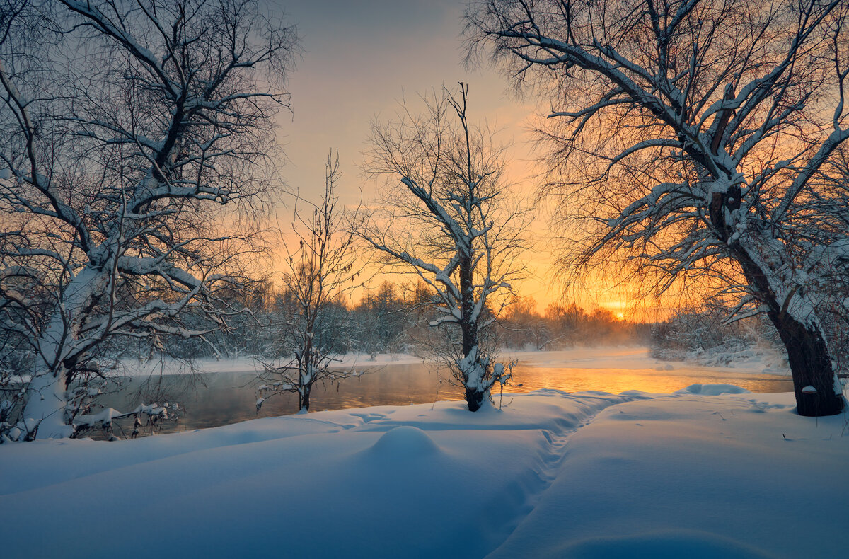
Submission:
[[[427,364],[387,364],[364,370],[368,374],[348,379],[339,387],[319,385],[313,388],[312,411],[374,405],[430,404],[436,400],[463,397],[460,388],[442,380],[438,372]],[[539,388],[554,388],[565,392],[599,390],[619,393],[642,390],[668,393],[696,382],[735,384],[751,392],[790,392],[793,389],[790,377],[785,375],[751,375],[711,367],[653,370],[518,364],[514,368],[514,378],[517,386],[505,387],[505,393],[531,392]],[[297,411],[296,395],[284,393],[268,398],[257,415],[255,379],[256,372],[249,367],[202,374],[200,380],[204,386],[194,389],[186,389],[180,375],[158,377],[157,382],[163,393],[171,389],[171,401],[176,399],[183,408],[181,420],[176,424],[166,424],[162,432],[222,426]],[[128,382],[121,392],[107,398],[104,404],[116,409],[134,408],[138,404],[138,391],[132,387],[138,386],[139,382],[138,379]],[[127,432],[132,431],[132,427],[128,427],[131,423],[128,421],[123,426]],[[121,434],[119,429],[115,431]]]

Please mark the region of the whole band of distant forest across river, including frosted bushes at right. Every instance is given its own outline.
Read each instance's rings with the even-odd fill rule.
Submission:
[[[385,281],[368,289],[358,302],[338,297],[319,319],[318,347],[329,353],[409,353],[422,358],[450,337],[452,325],[431,328],[435,318],[427,285],[397,285]],[[270,282],[257,282],[247,291],[233,291],[232,309],[223,325],[198,316],[196,330],[204,336],[183,339],[153,336],[116,340],[111,356],[146,359],[159,353],[176,358],[235,358],[256,356],[286,359],[295,350],[282,334],[297,313],[295,300]],[[494,310],[486,309],[492,317]],[[539,312],[531,297],[514,297],[486,331],[487,342],[512,350],[552,351],[576,346],[645,345],[657,359],[687,359],[700,353],[728,353],[781,344],[762,318],[725,324],[728,309],[716,306],[681,309],[666,320],[642,323],[619,319],[610,310],[587,310],[576,303],[550,303]],[[449,336],[447,336],[447,334]],[[720,363],[717,363],[720,364]]]

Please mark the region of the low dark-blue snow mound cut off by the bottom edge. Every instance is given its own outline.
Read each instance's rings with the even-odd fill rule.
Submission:
[[[569,545],[562,554],[569,559],[767,559],[771,557],[734,539],[717,534],[676,530],[637,536],[585,539]]]

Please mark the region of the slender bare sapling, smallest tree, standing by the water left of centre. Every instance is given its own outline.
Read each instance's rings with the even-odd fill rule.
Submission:
[[[257,412],[267,395],[283,392],[296,392],[298,409],[307,412],[317,383],[335,383],[356,375],[331,367],[334,359],[327,343],[338,330],[329,311],[340,296],[357,286],[359,276],[356,226],[346,221],[338,207],[338,179],[339,155],[334,158],[331,154],[321,201],[312,204],[299,197],[298,203],[306,204],[307,211],[295,206],[292,229],[298,246],[295,250],[287,247],[279,340],[290,348],[291,358],[281,366],[263,364]]]

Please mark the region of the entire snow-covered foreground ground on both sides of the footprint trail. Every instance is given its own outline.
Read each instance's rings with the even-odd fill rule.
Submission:
[[[846,556],[846,416],[728,389],[3,444],[0,555]]]

